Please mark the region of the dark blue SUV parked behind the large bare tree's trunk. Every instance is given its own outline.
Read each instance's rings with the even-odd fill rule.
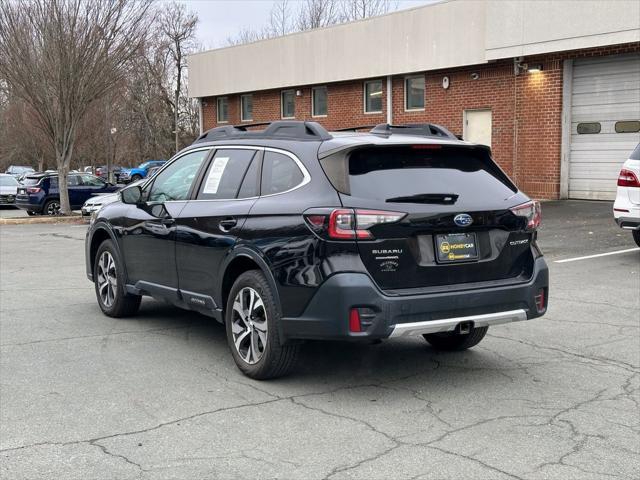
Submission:
[[[70,173],[67,186],[72,210],[82,208],[84,202],[94,195],[119,189],[88,173]],[[58,174],[40,173],[27,176],[18,187],[16,207],[26,210],[29,215],[57,215],[60,211]]]

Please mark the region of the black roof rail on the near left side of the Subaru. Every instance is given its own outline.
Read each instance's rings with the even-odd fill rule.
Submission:
[[[248,127],[267,126],[264,130],[247,130]],[[275,122],[253,123],[245,125],[225,125],[207,130],[193,143],[211,142],[223,139],[294,139],[294,140],[329,140],[333,137],[318,122],[300,120],[278,120]]]

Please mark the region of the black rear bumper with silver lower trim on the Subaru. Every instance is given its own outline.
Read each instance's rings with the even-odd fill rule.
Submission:
[[[300,317],[283,318],[286,339],[367,340],[453,331],[460,324],[481,327],[544,315],[549,273],[542,257],[526,283],[465,291],[390,296],[363,273],[340,273],[323,283]],[[544,289],[544,309],[535,297]],[[352,308],[366,308],[362,331],[349,330]]]

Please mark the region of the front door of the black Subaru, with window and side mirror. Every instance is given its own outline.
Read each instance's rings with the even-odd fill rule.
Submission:
[[[123,219],[128,280],[154,296],[178,297],[176,224],[210,151],[210,147],[199,148],[174,159],[145,185],[143,201],[129,205]]]

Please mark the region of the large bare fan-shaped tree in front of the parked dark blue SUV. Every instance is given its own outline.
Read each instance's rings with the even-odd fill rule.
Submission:
[[[147,35],[149,0],[0,0],[0,78],[53,145],[60,206],[87,109],[127,74]]]

